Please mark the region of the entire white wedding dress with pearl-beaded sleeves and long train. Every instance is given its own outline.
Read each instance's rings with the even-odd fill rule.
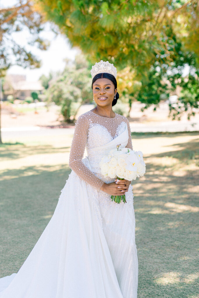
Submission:
[[[0,279],[0,298],[137,298],[132,185],[125,204],[100,190],[115,179],[101,176],[99,162],[118,144],[132,148],[126,117],[78,118],[55,212],[18,273]]]

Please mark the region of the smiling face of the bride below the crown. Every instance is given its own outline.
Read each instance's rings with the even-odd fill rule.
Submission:
[[[102,107],[107,105],[112,106],[112,101],[117,93],[114,84],[107,78],[97,79],[93,83],[92,91],[95,103]]]

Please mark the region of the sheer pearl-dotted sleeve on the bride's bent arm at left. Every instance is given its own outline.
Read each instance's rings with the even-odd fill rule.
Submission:
[[[88,120],[84,115],[80,115],[75,123],[75,132],[69,156],[69,167],[85,182],[95,187],[97,190],[104,184],[92,173],[82,162],[88,134]]]

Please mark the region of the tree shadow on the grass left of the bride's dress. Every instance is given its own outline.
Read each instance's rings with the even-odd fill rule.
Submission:
[[[53,215],[71,170],[52,168],[29,167],[34,175],[0,181],[1,276],[18,271]]]

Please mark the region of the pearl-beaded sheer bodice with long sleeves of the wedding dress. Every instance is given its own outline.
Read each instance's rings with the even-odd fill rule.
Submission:
[[[100,174],[101,158],[120,143],[121,148],[132,149],[128,119],[117,113],[114,118],[107,118],[88,111],[80,115],[75,124],[69,166],[81,179],[99,190],[104,182],[114,181]],[[82,162],[85,148],[92,171]]]

